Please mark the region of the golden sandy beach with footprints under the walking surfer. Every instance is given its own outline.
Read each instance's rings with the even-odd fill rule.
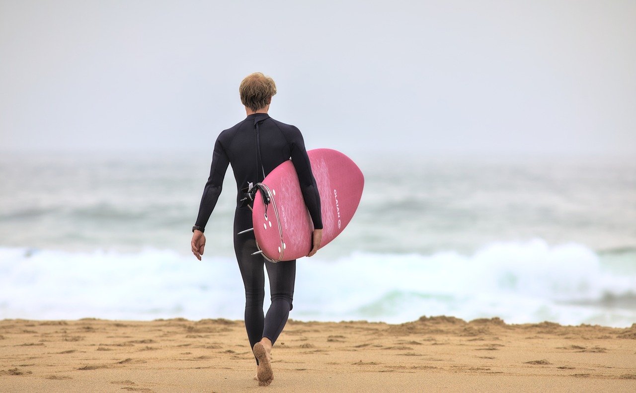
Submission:
[[[636,324],[289,321],[272,366],[242,321],[0,321],[2,392],[634,392]]]

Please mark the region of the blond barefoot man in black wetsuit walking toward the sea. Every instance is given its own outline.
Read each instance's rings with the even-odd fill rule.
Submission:
[[[273,380],[270,353],[284,328],[289,311],[293,308],[296,260],[273,263],[266,261],[258,251],[254,231],[238,234],[253,228],[252,212],[242,202],[244,189],[260,181],[278,165],[291,158],[298,173],[301,191],[314,223],[313,245],[307,256],[313,256],[321,244],[322,217],[318,188],[305,149],[303,135],[293,125],[273,120],[268,115],[276,85],[272,78],[255,72],[240,84],[240,99],[247,117],[237,125],[219,134],[214,144],[210,177],[205,183],[199,206],[197,222],[192,231],[192,252],[197,259],[205,249],[205,225],[221,193],[223,178],[229,164],[237,183],[237,209],[234,215],[234,251],[245,286],[245,328],[250,347],[256,357],[255,378],[259,385],[269,385]],[[263,314],[265,298],[265,274],[267,269],[272,304]]]

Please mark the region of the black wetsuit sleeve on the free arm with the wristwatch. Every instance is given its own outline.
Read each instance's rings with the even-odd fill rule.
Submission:
[[[219,137],[220,138],[220,137]],[[221,189],[223,188],[223,177],[228,169],[230,160],[221,145],[219,139],[214,144],[214,153],[212,153],[212,165],[210,167],[210,177],[205,183],[203,190],[203,196],[201,197],[201,204],[199,205],[199,212],[197,216],[197,223],[195,225],[205,228],[205,224],[210,219],[210,214],[216,206],[216,201],[221,195]]]

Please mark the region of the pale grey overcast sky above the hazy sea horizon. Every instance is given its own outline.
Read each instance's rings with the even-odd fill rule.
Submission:
[[[272,76],[308,148],[636,154],[635,1],[0,0],[0,150],[211,151]]]

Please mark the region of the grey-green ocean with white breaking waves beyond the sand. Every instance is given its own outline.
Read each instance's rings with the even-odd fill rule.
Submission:
[[[636,162],[352,158],[362,201],[298,260],[291,318],[636,322]],[[231,169],[203,260],[190,251],[210,159],[0,156],[0,319],[242,319]]]

